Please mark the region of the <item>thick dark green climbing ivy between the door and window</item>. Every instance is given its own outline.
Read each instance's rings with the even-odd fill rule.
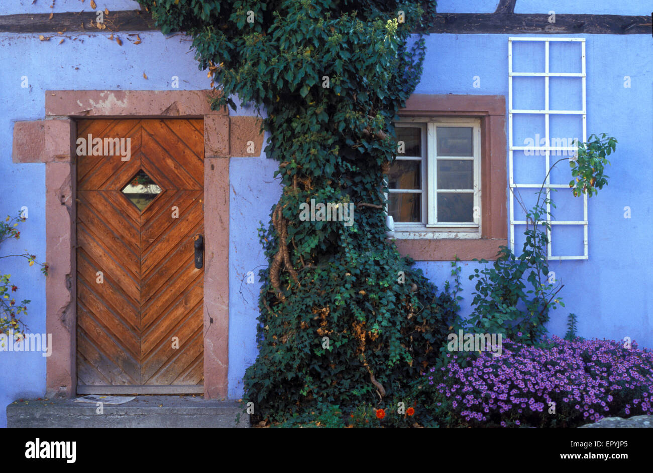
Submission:
[[[392,123],[421,76],[435,1],[139,1],[164,34],[193,38],[214,108],[235,110],[237,95],[266,115],[283,192],[259,230],[269,266],[244,380],[255,414],[396,399],[458,310],[385,237]],[[311,200],[353,218],[300,218]]]

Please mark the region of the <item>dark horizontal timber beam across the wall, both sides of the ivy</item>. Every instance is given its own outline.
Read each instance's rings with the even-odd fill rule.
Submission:
[[[557,14],[515,14],[515,0],[501,0],[494,13],[436,13],[430,33],[454,34],[575,34],[648,35],[649,16]],[[91,26],[95,12],[16,14],[0,16],[0,33],[57,33],[58,31],[153,31],[151,14],[143,10],[114,11],[104,16],[106,29]],[[83,24],[83,26],[82,26]]]

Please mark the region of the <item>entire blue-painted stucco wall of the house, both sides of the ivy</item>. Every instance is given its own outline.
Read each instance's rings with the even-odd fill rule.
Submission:
[[[70,3],[57,1],[55,11],[80,10],[78,6],[84,5],[74,1],[74,8],[65,7]],[[517,12],[524,3],[528,2],[518,0]],[[551,3],[556,5],[545,10],[564,5],[564,2]],[[116,0],[114,7],[132,8],[131,4]],[[460,10],[447,7],[454,5],[452,2],[443,0],[440,4],[440,11]],[[494,1],[483,4],[487,5],[465,11],[490,12],[496,7]],[[613,4],[616,5],[610,3]],[[605,12],[642,14],[641,3],[624,1],[620,5]],[[110,2],[106,6],[112,9]],[[98,2],[98,7],[104,4]],[[650,6],[646,8],[648,12],[652,10]],[[583,12],[603,12],[598,10]],[[44,9],[48,11],[49,8]],[[16,8],[15,3],[0,8],[0,14],[20,12],[24,10]],[[24,249],[41,259],[45,254],[44,165],[14,164],[11,143],[15,121],[44,117],[46,90],[163,90],[171,88],[172,76],[179,77],[180,89],[208,87],[206,73],[197,69],[193,53],[188,52],[187,38],[165,39],[161,33],[140,33],[142,43],[135,46],[128,40],[134,37],[125,34],[120,37],[123,46],[109,41],[104,34],[67,33],[63,35],[63,44],[59,44],[61,37],[57,35],[44,42],[39,41],[38,35],[0,35],[0,84],[3,84],[0,214],[14,215],[22,206],[29,208],[29,219],[22,224],[22,238],[3,245],[3,254]],[[416,93],[507,95],[507,37],[436,35],[426,38],[428,55]],[[650,309],[653,257],[648,245],[653,200],[653,191],[648,186],[653,178],[651,40],[646,35],[588,35],[586,38],[588,134],[609,132],[619,144],[613,166],[607,171],[611,177],[609,186],[589,202],[590,259],[551,264],[565,284],[561,295],[567,307],[554,313],[549,329],[552,333],[564,333],[565,316],[571,311],[579,316],[580,332],[585,337],[620,339],[628,335],[641,344],[653,346]],[[22,76],[27,76],[29,87],[21,87]],[[473,87],[474,76],[479,76],[481,87]],[[624,88],[624,76],[630,76],[630,88]],[[556,97],[560,100],[573,99],[571,89],[562,87],[559,93]],[[254,115],[255,112],[251,108],[239,108],[235,113],[230,110],[230,114]],[[231,159],[231,270],[225,277],[229,277],[230,284],[229,396],[234,398],[242,395],[242,375],[256,356],[255,318],[260,288],[257,266],[265,264],[257,228],[259,221],[268,222],[270,207],[279,196],[278,181],[273,178],[275,169],[276,163],[266,160],[264,154],[257,158]],[[624,219],[624,206],[631,207],[631,219]],[[563,245],[575,244],[571,238],[563,237],[559,241]],[[448,262],[418,262],[418,266],[440,287],[450,277]],[[465,298],[462,314],[467,314],[473,285],[467,275],[477,265],[464,262],[462,266]],[[247,271],[255,273],[254,284],[246,283]],[[44,332],[45,281],[38,269],[28,267],[24,261],[3,260],[2,272],[11,273],[20,286],[20,299],[32,300],[27,319],[31,331]],[[45,358],[40,353],[0,354],[0,406],[18,397],[43,395],[45,366]],[[0,426],[5,422],[5,410],[0,408]]]

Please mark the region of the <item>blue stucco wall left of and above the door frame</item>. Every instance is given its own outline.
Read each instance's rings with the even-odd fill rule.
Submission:
[[[46,90],[174,90],[171,86],[175,75],[179,89],[208,88],[206,72],[198,70],[193,53],[188,52],[187,38],[165,39],[157,32],[140,33],[142,42],[134,45],[127,35],[121,37],[122,46],[104,34],[67,34],[62,44],[58,44],[59,37],[40,41],[38,35],[0,35],[0,82],[5,84],[0,95],[0,212],[16,215],[22,206],[29,209],[27,222],[21,224],[21,239],[5,243],[2,254],[28,249],[41,261],[45,257],[45,166],[14,164],[11,147],[15,121],[44,118]],[[21,87],[22,76],[27,76],[26,88]],[[254,112],[242,109],[239,114]],[[261,218],[266,219],[265,212]],[[31,299],[26,320],[29,329],[44,333],[45,278],[36,266],[29,267],[24,260],[1,261],[1,272],[10,273],[20,288],[16,292],[19,300]],[[44,395],[45,370],[46,358],[40,353],[1,352],[0,406],[18,397]],[[0,426],[5,423],[3,408]]]

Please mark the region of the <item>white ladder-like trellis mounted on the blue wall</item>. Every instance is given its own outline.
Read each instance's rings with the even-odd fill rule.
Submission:
[[[543,41],[545,45],[545,69],[544,72],[513,72],[513,41]],[[581,72],[550,72],[549,71],[549,42],[550,41],[568,41],[581,43]],[[528,77],[543,77],[545,80],[545,108],[544,110],[515,110],[513,109],[513,77],[528,76]],[[549,78],[550,77],[578,77],[582,81],[582,110],[550,110],[549,108]],[[582,142],[587,141],[587,114],[585,105],[585,91],[586,91],[586,69],[585,69],[585,38],[558,38],[558,37],[509,37],[508,38],[508,132],[509,132],[509,186],[510,186],[510,248],[515,251],[515,225],[526,225],[525,220],[515,220],[515,196],[513,195],[514,189],[534,188],[539,189],[542,183],[515,183],[513,177],[513,151],[525,151],[526,149],[533,149],[545,151],[545,172],[549,170],[550,166],[550,152],[551,151],[576,151],[574,146],[551,146],[549,136],[549,116],[552,114],[560,115],[582,115]],[[532,114],[544,115],[545,117],[545,146],[516,146],[513,144],[513,114]],[[550,190],[554,188],[569,189],[567,184],[552,184],[550,183],[550,176],[547,174],[544,189],[547,198],[550,199]],[[547,203],[547,212],[550,212],[550,204]],[[551,254],[552,239],[551,232],[547,229],[547,237],[549,238],[549,245],[547,245],[547,258],[549,260],[586,260],[588,259],[588,220],[587,220],[587,194],[582,194],[582,221],[562,221],[551,220],[549,213],[547,213],[547,222],[550,225],[582,225],[583,226],[583,254],[567,255],[567,256],[554,256]]]

